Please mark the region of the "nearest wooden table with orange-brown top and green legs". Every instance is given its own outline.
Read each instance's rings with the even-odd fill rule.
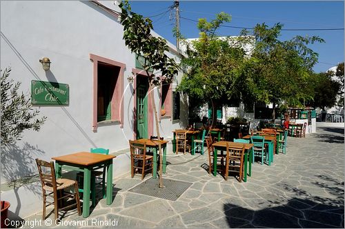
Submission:
[[[106,203],[112,203],[112,159],[116,156],[101,155],[91,152],[75,152],[70,155],[52,157],[55,160],[56,177],[61,177],[61,169],[83,172],[83,217],[90,215],[90,183],[91,171],[98,168],[107,168]],[[93,179],[92,179],[93,181]],[[93,182],[92,182],[93,183]],[[94,185],[94,184],[93,184]],[[95,192],[92,192],[92,202],[95,200]]]

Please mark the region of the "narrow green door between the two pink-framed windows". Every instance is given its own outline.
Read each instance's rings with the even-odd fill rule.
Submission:
[[[148,82],[137,77],[137,139],[148,138]]]

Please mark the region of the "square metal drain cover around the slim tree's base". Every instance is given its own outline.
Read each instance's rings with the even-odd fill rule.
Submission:
[[[139,185],[128,190],[128,192],[135,192],[151,197],[158,197],[161,199],[168,199],[170,201],[177,200],[193,183],[186,181],[177,181],[172,179],[162,179],[165,188],[159,188],[159,180],[148,179]]]

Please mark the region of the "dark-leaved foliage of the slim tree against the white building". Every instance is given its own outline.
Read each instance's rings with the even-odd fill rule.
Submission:
[[[166,40],[152,36],[152,21],[132,12],[128,1],[121,2],[119,7],[126,46],[138,56],[144,57],[141,66],[148,73],[150,83],[155,86],[161,83],[160,77],[150,70],[160,72],[165,81],[170,83],[177,74],[177,64],[165,54],[168,51]]]

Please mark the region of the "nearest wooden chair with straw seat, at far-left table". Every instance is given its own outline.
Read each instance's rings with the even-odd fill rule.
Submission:
[[[55,177],[55,168],[54,162],[43,161],[36,159],[37,168],[39,170],[39,178],[41,179],[42,185],[42,195],[43,195],[43,214],[42,219],[46,219],[46,207],[54,204],[54,215],[55,221],[58,218],[59,210],[67,210],[72,206],[77,206],[78,215],[81,215],[80,210],[80,201],[79,201],[79,192],[78,192],[78,182],[70,179]],[[75,193],[65,192],[65,188],[74,188]],[[58,196],[60,195],[60,196]],[[47,201],[47,197],[53,199],[52,202]],[[65,198],[73,197],[75,203],[70,204],[69,206],[62,207],[62,201]],[[59,201],[59,203],[58,203]],[[48,205],[47,205],[48,203]]]

